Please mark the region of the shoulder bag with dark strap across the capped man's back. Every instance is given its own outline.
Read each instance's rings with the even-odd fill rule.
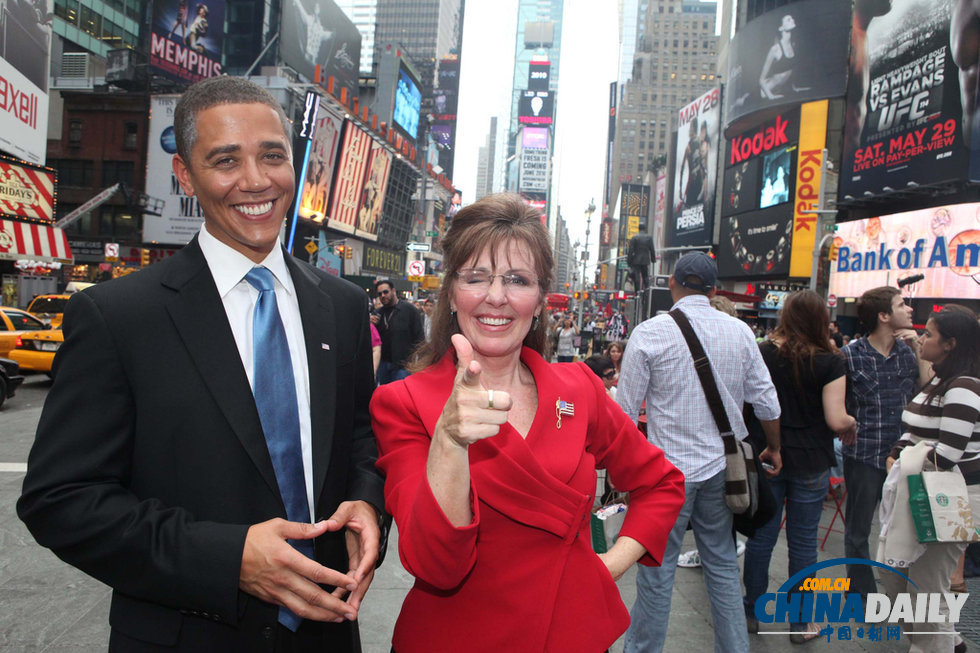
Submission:
[[[670,311],[669,315],[674,318],[691,350],[694,369],[698,373],[698,379],[701,381],[705,398],[711,408],[711,415],[718,426],[718,432],[725,443],[725,503],[736,515],[752,516],[759,507],[759,468],[756,466],[755,452],[751,444],[735,437],[728,414],[725,412],[725,405],[718,393],[718,386],[715,384],[711,361],[704,353],[704,347],[701,346],[701,341],[694,333],[687,316],[676,308]]]

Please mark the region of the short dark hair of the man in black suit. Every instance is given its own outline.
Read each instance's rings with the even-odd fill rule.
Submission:
[[[286,145],[291,146],[292,126],[279,101],[269,91],[242,77],[209,77],[191,84],[177,100],[174,108],[174,136],[177,154],[190,161],[191,150],[197,141],[197,114],[219,104],[264,104],[275,110],[282,123]]]

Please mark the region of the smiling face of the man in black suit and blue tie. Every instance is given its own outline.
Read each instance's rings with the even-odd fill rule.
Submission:
[[[279,116],[264,104],[219,104],[198,112],[197,134],[189,161],[174,156],[174,174],[200,202],[208,233],[261,262],[295,192]]]

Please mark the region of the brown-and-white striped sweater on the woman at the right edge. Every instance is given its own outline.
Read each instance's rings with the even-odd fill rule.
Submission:
[[[959,465],[967,483],[980,484],[980,379],[961,376],[927,404],[926,395],[938,384],[936,378],[930,381],[902,413],[904,433],[890,455],[898,458],[903,448],[922,440],[937,442],[940,469]]]

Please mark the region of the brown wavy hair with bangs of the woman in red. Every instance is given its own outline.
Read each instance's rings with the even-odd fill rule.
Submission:
[[[547,306],[547,295],[555,277],[555,258],[548,231],[541,223],[541,214],[524,203],[520,195],[495,193],[460,209],[442,241],[442,287],[435,310],[432,311],[432,330],[428,342],[415,351],[408,369],[418,372],[439,362],[452,346],[450,338],[459,333],[456,316],[450,311],[456,273],[484,251],[496,264],[496,256],[510,241],[525,245],[534,259],[534,273],[541,291],[541,309]],[[550,345],[547,320],[537,319],[524,337],[524,345],[547,356]]]

